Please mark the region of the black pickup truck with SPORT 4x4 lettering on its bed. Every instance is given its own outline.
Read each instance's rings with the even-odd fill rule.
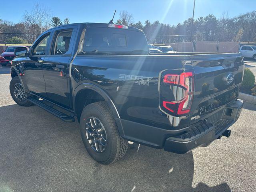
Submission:
[[[241,54],[150,54],[142,30],[130,26],[63,25],[15,54],[14,101],[64,122],[77,118],[102,164],[124,156],[128,141],[180,154],[208,146],[230,136],[243,106]]]

